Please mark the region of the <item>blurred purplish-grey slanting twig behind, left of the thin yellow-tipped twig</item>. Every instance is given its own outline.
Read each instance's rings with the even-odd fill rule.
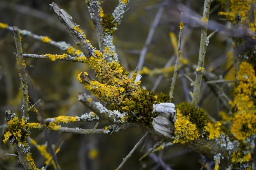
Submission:
[[[160,22],[160,19],[162,17],[162,14],[163,14],[163,5],[161,5],[157,11],[157,14],[154,18],[154,21],[149,29],[149,32],[148,32],[148,37],[146,39],[146,42],[145,42],[145,45],[143,47],[143,49],[140,51],[140,58],[139,58],[139,62],[138,62],[138,70],[141,70],[142,69],[142,66],[144,64],[144,60],[145,60],[145,56],[147,54],[147,51],[148,51],[148,45],[150,45],[151,43],[151,40],[153,39],[153,36],[154,36],[154,32]]]

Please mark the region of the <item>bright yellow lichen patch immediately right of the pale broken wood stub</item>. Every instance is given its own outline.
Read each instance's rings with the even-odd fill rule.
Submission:
[[[196,128],[195,124],[192,124],[189,121],[188,116],[183,116],[180,113],[180,110],[177,109],[176,113],[177,120],[175,121],[175,138],[173,143],[186,143],[189,142],[189,140],[194,140],[199,138],[199,132]]]

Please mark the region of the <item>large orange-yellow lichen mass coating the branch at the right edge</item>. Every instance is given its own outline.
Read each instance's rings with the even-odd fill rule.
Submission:
[[[256,107],[253,101],[256,97],[256,77],[249,63],[241,62],[237,80],[234,100],[230,102],[230,105],[236,108],[232,112],[231,133],[241,140],[256,134]]]

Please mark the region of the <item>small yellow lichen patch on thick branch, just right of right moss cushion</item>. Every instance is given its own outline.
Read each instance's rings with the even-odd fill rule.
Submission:
[[[208,138],[210,140],[218,138],[221,134],[221,122],[217,121],[215,124],[213,124],[212,122],[208,122],[207,126],[205,126],[204,128],[209,133]]]

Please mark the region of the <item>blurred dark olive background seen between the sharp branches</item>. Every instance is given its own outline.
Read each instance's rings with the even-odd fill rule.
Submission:
[[[145,66],[140,72],[143,74],[141,86],[156,93],[169,94],[172,80],[172,68],[175,59],[175,41],[179,34],[180,11],[177,4],[182,3],[188,8],[203,13],[204,0],[130,0],[130,9],[124,14],[121,25],[114,32],[114,44],[119,55],[119,61],[128,71],[134,71],[138,65],[141,50],[146,48]],[[0,0],[0,22],[9,26],[18,26],[20,29],[31,31],[39,36],[48,36],[54,41],[65,41],[76,46],[64,26],[50,11],[49,4],[55,2],[65,9],[79,24],[93,46],[98,47],[93,23],[84,0]],[[102,8],[105,14],[113,12],[118,0],[105,0]],[[159,9],[163,8],[160,12]],[[218,12],[225,11],[218,1],[212,3],[210,20],[226,24],[223,16]],[[195,16],[198,17],[198,16]],[[199,18],[201,19],[201,18]],[[154,24],[155,28],[154,28]],[[152,30],[153,29],[153,30]],[[150,43],[145,45],[149,31],[153,31]],[[209,30],[209,34],[214,30]],[[172,33],[172,36],[170,36]],[[181,64],[175,85],[173,102],[178,104],[190,101],[190,93],[193,88],[189,79],[195,79],[201,29],[192,24],[183,29],[182,57],[187,62]],[[176,40],[174,37],[176,37]],[[150,37],[149,37],[150,38]],[[59,48],[35,40],[31,37],[22,37],[23,53],[27,54],[63,54]],[[232,44],[232,40],[231,40]],[[216,75],[216,79],[229,76],[230,71],[227,61],[230,38],[221,34],[214,34],[207,47],[205,59],[206,71]],[[22,96],[20,91],[20,79],[16,68],[15,41],[12,31],[0,29],[0,139],[3,139],[3,131],[6,127],[5,111],[12,109],[18,117],[21,117]],[[81,116],[89,113],[84,105],[76,101],[76,94],[85,91],[76,77],[81,71],[87,71],[92,77],[93,72],[87,64],[68,61],[55,61],[45,59],[25,59],[29,77],[29,101],[35,103],[38,99],[39,112],[44,118],[58,115]],[[166,65],[167,64],[167,65]],[[166,66],[166,69],[163,69]],[[148,71],[151,70],[151,71]],[[231,73],[227,79],[233,79]],[[227,96],[232,92],[232,86],[219,85]],[[214,87],[215,88],[215,87]],[[89,93],[89,92],[87,92]],[[200,106],[215,119],[220,119],[220,111],[227,112],[223,101],[214,93],[212,87],[206,82],[202,83]],[[95,99],[96,100],[96,99]],[[38,122],[37,115],[30,113],[30,122]],[[70,123],[68,127],[93,128],[92,123]],[[109,125],[108,122],[100,122],[98,128]],[[66,126],[66,125],[63,125]],[[55,148],[63,139],[64,144],[57,154],[61,170],[114,170],[122,162],[122,159],[130,152],[140,140],[145,131],[139,128],[125,130],[119,133],[100,135],[77,135],[70,133],[58,134],[49,132],[49,138]],[[31,130],[31,138],[38,144],[45,144],[44,133],[39,130]],[[140,148],[128,159],[123,170],[165,170],[170,166],[174,170],[200,170],[204,163],[204,157],[179,144],[166,147],[155,152],[143,161],[138,159],[146,153],[156,142],[161,139],[151,136],[140,152]],[[54,147],[54,146],[52,146]],[[44,157],[37,148],[31,145],[32,156],[38,168],[45,166]],[[0,170],[22,170],[16,158],[5,156],[5,153],[14,153],[15,148],[10,144],[0,142]],[[161,164],[160,162],[164,162]],[[208,165],[208,169],[210,168]],[[49,167],[49,170],[53,167]],[[204,167],[206,169],[206,167]]]

